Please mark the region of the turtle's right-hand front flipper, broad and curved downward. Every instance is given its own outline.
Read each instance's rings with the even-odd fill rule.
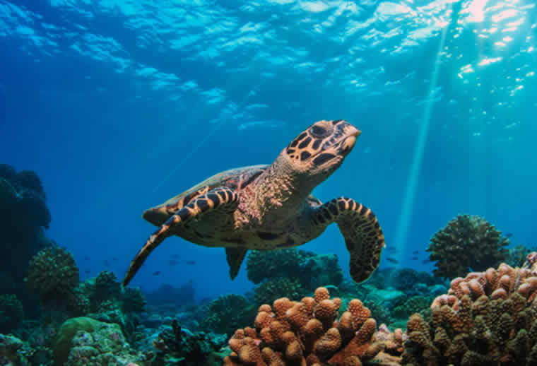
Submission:
[[[319,206],[314,223],[337,223],[350,254],[350,277],[356,282],[367,280],[379,266],[384,247],[384,234],[372,211],[346,197],[333,199]]]

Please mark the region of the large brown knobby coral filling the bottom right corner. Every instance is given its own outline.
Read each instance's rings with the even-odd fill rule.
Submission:
[[[403,365],[537,365],[537,276],[530,268],[455,278],[431,305],[431,321],[407,323]]]

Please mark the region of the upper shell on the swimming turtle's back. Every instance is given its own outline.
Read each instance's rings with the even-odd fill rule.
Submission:
[[[177,196],[168,199],[165,203],[149,208],[143,213],[142,217],[153,225],[163,225],[168,218],[173,216],[196,196],[206,194],[216,187],[229,187],[233,190],[243,189],[252,183],[256,177],[259,177],[267,167],[268,165],[252,165],[225,170],[177,194]]]

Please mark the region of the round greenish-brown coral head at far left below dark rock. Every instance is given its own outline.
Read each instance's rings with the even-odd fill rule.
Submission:
[[[30,260],[26,282],[44,300],[67,297],[78,284],[73,255],[60,247],[40,250]]]

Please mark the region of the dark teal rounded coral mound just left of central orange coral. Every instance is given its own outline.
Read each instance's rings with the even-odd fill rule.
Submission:
[[[235,329],[251,322],[256,308],[244,296],[220,296],[208,305],[200,328],[220,334],[232,334]]]

